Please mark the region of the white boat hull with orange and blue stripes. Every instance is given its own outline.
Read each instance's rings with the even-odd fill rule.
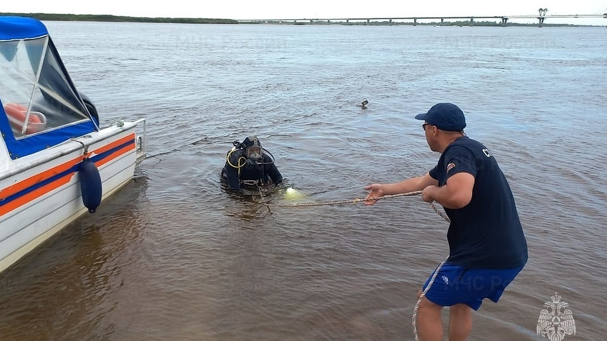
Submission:
[[[129,183],[144,154],[143,140],[135,132],[137,123],[66,141],[15,160],[13,170],[0,174],[0,272],[89,214],[78,174],[85,154],[100,173],[101,206]]]

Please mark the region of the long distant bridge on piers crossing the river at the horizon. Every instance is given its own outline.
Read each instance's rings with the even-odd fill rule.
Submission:
[[[239,20],[239,21],[241,21],[241,22],[268,22],[268,21],[279,21],[279,22],[280,21],[293,21],[293,22],[367,21],[367,22],[370,22],[371,20],[373,20],[373,21],[389,21],[390,24],[392,24],[392,22],[396,21],[396,20],[413,20],[413,25],[415,26],[415,25],[417,25],[418,20],[440,19],[441,24],[442,24],[445,19],[466,19],[466,20],[469,20],[470,26],[472,26],[474,23],[474,19],[493,19],[493,20],[499,19],[501,21],[501,25],[503,27],[505,27],[508,19],[513,19],[513,18],[514,19],[535,18],[535,19],[538,19],[538,27],[542,27],[544,24],[544,19],[546,19],[546,18],[606,18],[607,19],[607,13],[581,14],[581,15],[578,15],[578,14],[575,14],[575,15],[573,15],[573,14],[572,15],[539,15],[539,16],[538,15],[509,15],[509,16],[474,16],[474,15],[470,15],[470,16],[403,16],[403,17],[395,17],[395,18],[246,19],[246,20]]]

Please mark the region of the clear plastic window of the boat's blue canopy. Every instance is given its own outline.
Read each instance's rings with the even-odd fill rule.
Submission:
[[[0,100],[16,139],[89,120],[49,41],[0,41]]]

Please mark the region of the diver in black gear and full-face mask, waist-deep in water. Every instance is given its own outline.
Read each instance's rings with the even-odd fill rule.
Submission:
[[[239,190],[249,186],[263,186],[272,181],[275,186],[282,183],[282,175],[274,164],[274,156],[262,148],[256,135],[241,142],[232,142],[234,147],[226,155],[222,169],[222,179],[231,189]]]

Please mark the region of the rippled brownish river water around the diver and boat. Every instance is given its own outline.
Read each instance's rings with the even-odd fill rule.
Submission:
[[[219,172],[257,134],[305,194],[264,200],[363,198],[434,166],[413,116],[443,101],[497,158],[529,243],[469,339],[546,340],[555,292],[566,340],[605,339],[605,27],[46,24],[102,124],[146,118],[150,156],[0,275],[2,341],[412,340],[416,292],[448,253],[428,204],[268,209]]]

